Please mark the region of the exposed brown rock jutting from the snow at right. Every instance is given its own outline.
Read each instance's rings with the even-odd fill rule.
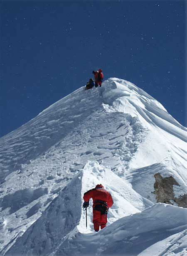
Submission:
[[[155,184],[154,184],[154,194],[156,195],[157,203],[165,204],[177,204],[180,207],[187,208],[187,194],[175,197],[173,192],[173,185],[180,186],[178,182],[172,177],[163,178],[160,173],[156,173]]]

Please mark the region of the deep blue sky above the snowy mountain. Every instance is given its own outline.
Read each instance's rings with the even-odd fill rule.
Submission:
[[[1,1],[0,12],[0,137],[98,68],[185,125],[185,1]]]

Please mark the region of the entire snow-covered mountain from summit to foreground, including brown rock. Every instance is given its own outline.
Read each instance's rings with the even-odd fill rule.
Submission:
[[[187,254],[186,142],[187,129],[128,81],[62,98],[0,138],[0,253]],[[81,205],[98,183],[114,205],[94,234]]]

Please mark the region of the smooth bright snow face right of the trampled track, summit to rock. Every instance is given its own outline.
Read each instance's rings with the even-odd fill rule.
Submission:
[[[175,188],[176,196],[186,194],[187,129],[172,118],[158,101],[134,84],[109,79],[106,85],[102,93],[104,108],[109,112],[121,111],[137,117],[146,131],[123,175],[138,193],[153,202],[156,202],[151,193],[156,172],[163,177],[172,175],[175,178],[180,185]]]

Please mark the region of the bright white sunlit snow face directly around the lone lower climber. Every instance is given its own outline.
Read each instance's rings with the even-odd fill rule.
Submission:
[[[98,162],[89,161],[83,169],[82,197],[86,191],[94,188],[97,184],[102,184],[113,197],[114,204],[108,212],[109,224],[124,216],[140,212],[153,204],[148,199],[145,199],[136,193],[132,189],[130,183],[118,177],[111,171],[110,167],[99,165]],[[81,233],[93,231],[92,209],[88,208],[87,214],[89,226],[88,229],[85,230],[86,219],[85,214],[82,214],[78,226],[78,230]]]

